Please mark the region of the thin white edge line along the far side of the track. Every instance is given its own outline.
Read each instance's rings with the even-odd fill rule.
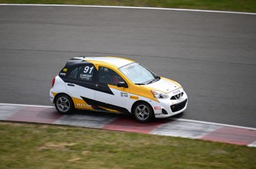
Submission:
[[[177,10],[177,11],[191,11],[191,12],[204,12],[204,13],[233,13],[233,14],[256,15],[256,13],[241,13],[241,12],[220,11],[220,10],[188,10],[188,9],[175,9],[175,8],[162,8],[162,7],[122,7],[122,6],[98,6],[98,5],[74,5],[74,4],[0,4],[0,6],[104,7],[104,8],[124,8],[124,9],[142,9],[142,10]]]

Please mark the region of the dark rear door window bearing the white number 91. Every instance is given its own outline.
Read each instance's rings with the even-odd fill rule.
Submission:
[[[94,73],[93,65],[80,66],[78,69],[78,79],[82,81],[92,82],[93,73]]]

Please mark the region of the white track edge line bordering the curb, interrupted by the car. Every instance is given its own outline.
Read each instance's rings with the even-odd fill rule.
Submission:
[[[23,106],[23,107],[55,108],[54,106],[11,104],[11,103],[0,103],[0,106]],[[177,121],[182,121],[182,122],[201,123],[201,124],[208,124],[208,125],[220,125],[220,126],[224,126],[224,127],[242,128],[242,129],[256,131],[256,128],[249,128],[249,127],[244,127],[244,126],[239,126],[239,125],[227,125],[227,124],[222,124],[222,123],[211,123],[211,122],[204,122],[204,121],[199,121],[199,120],[188,120],[188,119],[178,119],[178,118],[172,118],[172,119],[177,120]]]

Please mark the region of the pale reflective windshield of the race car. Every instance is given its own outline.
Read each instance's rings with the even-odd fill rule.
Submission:
[[[128,77],[131,82],[140,85],[152,83],[154,80],[160,78],[139,63],[130,63],[122,66],[119,70]]]

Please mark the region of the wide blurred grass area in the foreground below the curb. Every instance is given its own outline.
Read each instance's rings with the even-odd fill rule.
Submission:
[[[0,168],[256,168],[256,148],[59,125],[0,123]]]

